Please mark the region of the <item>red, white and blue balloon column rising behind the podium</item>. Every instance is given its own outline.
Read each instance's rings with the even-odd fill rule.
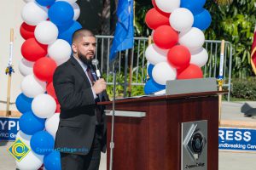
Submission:
[[[166,81],[202,78],[201,67],[208,54],[202,48],[202,31],[211,24],[211,15],[203,8],[206,0],[152,0],[154,8],[145,17],[152,29],[154,43],[146,49],[149,80],[145,94],[166,88]]]

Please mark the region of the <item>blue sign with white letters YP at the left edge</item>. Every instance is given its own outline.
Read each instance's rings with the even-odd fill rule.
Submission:
[[[15,140],[19,130],[19,118],[0,117],[0,141]]]

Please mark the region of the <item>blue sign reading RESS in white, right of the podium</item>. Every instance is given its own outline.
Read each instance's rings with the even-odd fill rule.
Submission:
[[[219,127],[218,149],[256,151],[256,129]]]

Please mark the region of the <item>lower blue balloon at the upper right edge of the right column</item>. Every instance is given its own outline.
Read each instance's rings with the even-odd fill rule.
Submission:
[[[193,27],[199,28],[201,31],[207,30],[211,25],[212,17],[207,9],[204,9],[201,13],[194,15]]]

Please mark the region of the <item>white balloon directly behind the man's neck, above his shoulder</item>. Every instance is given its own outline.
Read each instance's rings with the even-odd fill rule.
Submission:
[[[55,60],[57,65],[66,62],[70,58],[71,52],[69,43],[62,39],[57,39],[48,46],[48,55]]]

